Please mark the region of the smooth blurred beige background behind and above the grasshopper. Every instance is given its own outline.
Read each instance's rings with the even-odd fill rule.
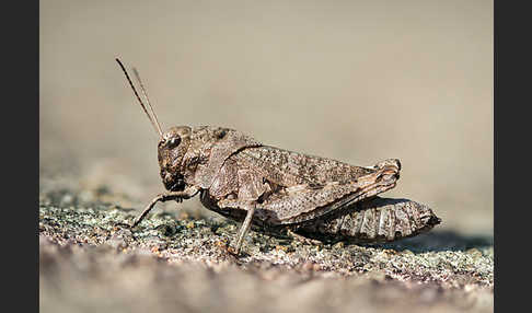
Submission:
[[[39,32],[41,182],[139,204],[163,190],[119,57],[163,128],[227,126],[354,165],[398,158],[382,196],[493,235],[493,1],[48,0]]]

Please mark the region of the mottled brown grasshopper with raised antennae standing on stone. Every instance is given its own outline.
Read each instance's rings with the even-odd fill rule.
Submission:
[[[242,222],[232,244],[235,254],[252,227],[285,229],[309,237],[379,242],[415,235],[440,222],[417,202],[398,205],[375,197],[395,187],[401,170],[396,159],[354,166],[265,146],[225,127],[177,126],[163,132],[140,76],[134,69],[151,115],[123,63],[116,61],[160,136],[160,175],[167,190],[151,200],[131,228],[157,202],[181,202],[197,194],[207,209]]]

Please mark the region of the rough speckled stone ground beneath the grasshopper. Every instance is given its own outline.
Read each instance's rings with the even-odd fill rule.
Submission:
[[[493,311],[493,237],[435,229],[359,246],[251,232],[234,257],[236,223],[155,209],[131,232],[129,202],[42,184],[42,312]]]

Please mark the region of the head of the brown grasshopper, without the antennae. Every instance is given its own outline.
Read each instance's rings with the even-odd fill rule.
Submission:
[[[192,129],[188,126],[172,127],[159,140],[159,166],[161,167],[161,178],[167,190],[185,189],[181,164],[190,144],[190,134]]]

